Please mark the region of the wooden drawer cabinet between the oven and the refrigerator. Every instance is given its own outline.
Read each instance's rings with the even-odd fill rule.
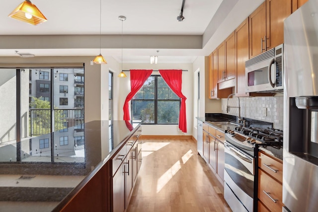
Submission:
[[[283,162],[258,152],[258,212],[281,212],[283,208]]]

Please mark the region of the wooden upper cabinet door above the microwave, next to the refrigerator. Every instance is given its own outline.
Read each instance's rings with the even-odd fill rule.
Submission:
[[[284,43],[284,20],[292,13],[292,0],[266,0],[267,49]]]

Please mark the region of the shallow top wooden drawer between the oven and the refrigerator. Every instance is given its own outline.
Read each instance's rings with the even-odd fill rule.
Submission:
[[[264,152],[258,152],[258,167],[270,176],[283,183],[283,163]]]

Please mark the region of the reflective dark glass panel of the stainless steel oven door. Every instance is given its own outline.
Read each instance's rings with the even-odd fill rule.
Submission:
[[[253,166],[253,162],[251,164]],[[248,196],[253,198],[254,176],[248,168],[233,154],[226,149],[225,152],[225,170],[232,180]]]

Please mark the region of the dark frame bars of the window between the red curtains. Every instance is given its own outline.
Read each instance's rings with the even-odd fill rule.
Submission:
[[[137,122],[135,122],[134,121],[134,119],[133,119],[133,104],[134,104],[134,101],[140,101],[140,100],[142,100],[142,101],[153,101],[154,102],[154,123],[143,123],[143,124],[145,124],[145,125],[178,125],[179,123],[178,122],[176,122],[176,123],[158,123],[158,103],[160,102],[160,101],[171,101],[171,102],[176,102],[176,101],[178,101],[179,102],[179,112],[180,112],[180,106],[181,106],[181,98],[179,98],[178,100],[177,99],[158,99],[158,77],[161,77],[162,78],[162,76],[161,75],[158,75],[158,74],[152,74],[152,75],[150,75],[149,77],[155,77],[155,98],[154,99],[134,99],[134,97],[131,99],[131,120],[132,120],[132,122],[133,123],[137,123]],[[162,78],[162,80],[164,80],[163,78]],[[146,80],[147,81],[147,80]],[[144,86],[144,85],[143,85]],[[169,87],[169,86],[168,86]],[[142,89],[143,87],[141,87],[141,89]],[[171,90],[171,88],[169,87],[169,89]],[[172,90],[171,90],[172,91]],[[138,92],[139,92],[139,90],[138,90]],[[137,93],[138,93],[137,92]],[[172,91],[173,92],[173,91]],[[137,94],[136,93],[136,94]],[[173,92],[174,93],[174,92]],[[135,95],[136,95],[135,94]],[[175,94],[175,93],[174,93]],[[176,95],[176,94],[175,94]],[[179,114],[178,114],[179,115]],[[179,119],[178,119],[179,120]]]

